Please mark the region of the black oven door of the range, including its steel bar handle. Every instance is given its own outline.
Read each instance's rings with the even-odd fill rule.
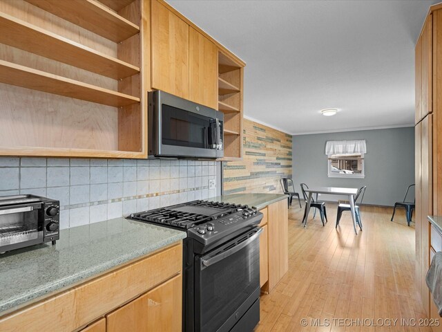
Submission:
[[[253,327],[259,322],[260,232],[195,258],[195,331],[231,331],[253,304]]]

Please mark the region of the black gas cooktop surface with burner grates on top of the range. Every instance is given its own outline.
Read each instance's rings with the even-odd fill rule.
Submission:
[[[168,225],[173,228],[188,230],[196,225],[220,219],[229,214],[238,213],[244,216],[256,214],[256,209],[247,205],[213,201],[192,201],[145,212],[131,214],[128,218]]]

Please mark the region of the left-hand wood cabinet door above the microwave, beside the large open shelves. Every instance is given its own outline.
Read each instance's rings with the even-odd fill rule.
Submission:
[[[152,88],[189,99],[189,25],[151,3]]]

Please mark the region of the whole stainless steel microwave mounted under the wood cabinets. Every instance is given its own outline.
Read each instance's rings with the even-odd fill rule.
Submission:
[[[224,114],[164,91],[148,93],[148,155],[166,158],[224,156]]]

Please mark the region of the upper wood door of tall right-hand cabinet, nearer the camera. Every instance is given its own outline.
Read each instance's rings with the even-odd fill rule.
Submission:
[[[421,119],[432,113],[432,26],[432,15],[429,15],[421,35]]]

